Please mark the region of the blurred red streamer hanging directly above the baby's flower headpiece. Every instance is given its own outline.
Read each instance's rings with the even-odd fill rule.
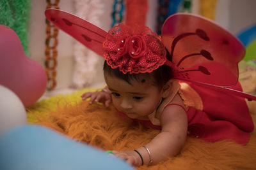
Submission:
[[[125,24],[145,25],[147,19],[147,10],[147,0],[127,0],[125,8]]]

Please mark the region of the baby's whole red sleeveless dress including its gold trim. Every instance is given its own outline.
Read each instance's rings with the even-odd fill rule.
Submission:
[[[175,81],[173,84],[175,83],[170,96],[179,92],[180,97],[184,100],[188,115],[189,136],[210,142],[228,139],[241,145],[248,143],[250,132],[253,131],[254,126],[243,98],[230,96],[216,89],[205,89],[194,83],[184,85],[184,83]],[[232,89],[242,90],[239,83]],[[164,99],[165,101],[160,104],[158,110],[150,114],[149,120],[134,119],[134,121],[161,129],[159,117],[164,107],[172,103],[172,98]],[[118,113],[125,115],[120,111]]]

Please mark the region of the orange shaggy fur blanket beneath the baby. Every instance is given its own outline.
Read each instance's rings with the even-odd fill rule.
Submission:
[[[35,115],[40,124],[103,150],[133,150],[159,133],[120,117],[113,106],[89,105],[87,101]],[[208,143],[188,138],[176,157],[138,169],[256,169],[256,134],[252,133],[246,146],[232,141]]]

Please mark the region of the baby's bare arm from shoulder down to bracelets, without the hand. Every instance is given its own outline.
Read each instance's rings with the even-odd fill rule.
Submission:
[[[161,127],[161,132],[146,145],[152,155],[153,164],[177,155],[182,149],[188,131],[186,111],[177,105],[166,107],[161,115]]]

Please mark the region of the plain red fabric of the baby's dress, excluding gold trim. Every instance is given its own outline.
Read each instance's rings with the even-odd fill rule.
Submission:
[[[204,104],[202,111],[193,107],[188,108],[189,136],[209,142],[231,139],[236,143],[246,145],[254,126],[244,99],[223,93],[221,90],[200,87],[195,83],[189,85],[198,92]],[[231,89],[242,91],[240,83]],[[125,115],[120,111],[118,113]],[[134,121],[161,129],[161,126],[153,125],[147,120],[134,119]]]

